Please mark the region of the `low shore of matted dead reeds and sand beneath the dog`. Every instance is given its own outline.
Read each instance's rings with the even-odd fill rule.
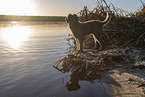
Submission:
[[[123,58],[124,55],[128,57]],[[132,49],[86,51],[69,54],[53,66],[63,73],[76,71],[91,79],[100,75],[101,81],[107,85],[106,92],[110,97],[145,97],[145,71],[143,68],[138,69],[138,57],[143,62],[144,52]],[[127,64],[130,58],[133,61]]]

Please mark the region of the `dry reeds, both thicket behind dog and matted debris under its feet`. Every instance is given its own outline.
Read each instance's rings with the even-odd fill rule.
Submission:
[[[68,54],[53,65],[59,71],[77,70],[83,72],[84,76],[92,77],[98,71],[114,68],[117,64],[132,68],[133,64],[145,60],[145,5],[141,10],[129,13],[113,4],[108,5],[105,0],[97,0],[96,4],[97,7],[92,11],[85,6],[78,14],[80,21],[88,21],[104,20],[106,12],[112,13],[111,21],[104,27],[102,35],[106,49]],[[87,49],[93,48],[93,37],[88,36],[84,44]]]

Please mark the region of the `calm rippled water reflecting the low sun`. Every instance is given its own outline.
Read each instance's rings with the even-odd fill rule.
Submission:
[[[67,90],[70,73],[52,67],[66,55],[69,33],[62,22],[0,22],[0,97],[108,97],[99,80]]]

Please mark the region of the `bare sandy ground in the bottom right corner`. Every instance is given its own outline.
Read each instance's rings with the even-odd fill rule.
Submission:
[[[101,74],[111,97],[145,97],[145,71],[115,68]]]

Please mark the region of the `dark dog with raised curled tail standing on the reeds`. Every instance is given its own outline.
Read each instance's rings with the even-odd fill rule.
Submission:
[[[100,45],[99,50],[104,49],[104,43],[102,41],[101,36],[103,27],[110,21],[110,13],[107,13],[106,19],[104,21],[90,20],[87,22],[80,22],[79,17],[76,14],[69,14],[66,18],[66,21],[69,24],[69,27],[73,33],[73,36],[76,40],[76,44],[78,44],[77,41],[79,41],[79,51],[83,51],[84,36],[89,34],[93,34],[93,38],[95,41],[94,49],[97,48],[97,42]]]

